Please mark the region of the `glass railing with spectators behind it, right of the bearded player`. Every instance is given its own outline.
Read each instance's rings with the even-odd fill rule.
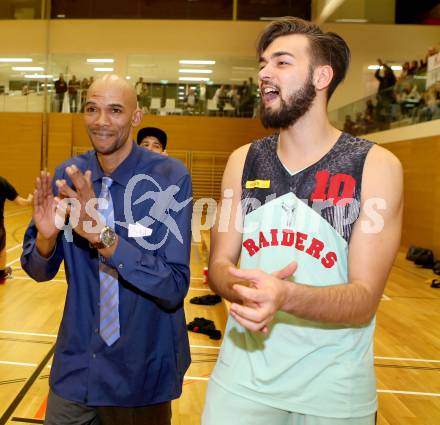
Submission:
[[[355,136],[440,118],[440,83],[425,89],[426,77],[400,80],[394,87],[331,111],[330,121]]]

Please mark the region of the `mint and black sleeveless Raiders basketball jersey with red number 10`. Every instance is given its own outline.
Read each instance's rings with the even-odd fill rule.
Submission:
[[[272,273],[295,260],[296,283],[347,284],[348,243],[373,143],[342,133],[318,162],[293,175],[277,143],[277,135],[254,142],[245,160],[240,268]],[[373,332],[374,320],[335,325],[278,312],[263,334],[229,317],[212,379],[287,411],[366,416],[377,409]]]

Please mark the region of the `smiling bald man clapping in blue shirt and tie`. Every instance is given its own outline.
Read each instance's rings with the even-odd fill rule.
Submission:
[[[36,181],[22,267],[48,281],[64,260],[68,282],[46,425],[170,425],[181,394],[191,181],[178,161],[133,142],[141,118],[124,79],[97,80],[84,114],[94,150]],[[158,204],[169,220],[148,215]]]

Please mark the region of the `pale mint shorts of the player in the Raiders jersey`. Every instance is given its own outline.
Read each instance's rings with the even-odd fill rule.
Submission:
[[[361,418],[324,418],[280,410],[224,390],[212,379],[201,425],[374,425],[375,414]]]

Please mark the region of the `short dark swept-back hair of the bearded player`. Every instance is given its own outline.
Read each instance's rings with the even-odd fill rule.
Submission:
[[[333,78],[327,90],[327,100],[329,100],[347,74],[350,63],[350,48],[334,32],[323,32],[312,22],[285,16],[271,22],[260,34],[257,41],[258,57],[261,57],[276,38],[291,34],[302,34],[308,38],[312,66],[330,65],[332,67]]]

